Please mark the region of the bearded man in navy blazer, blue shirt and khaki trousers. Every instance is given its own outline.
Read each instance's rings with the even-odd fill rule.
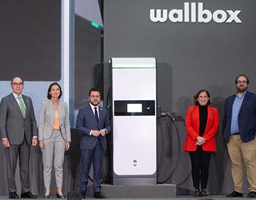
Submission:
[[[247,170],[250,193],[256,196],[256,94],[247,88],[249,79],[239,75],[235,79],[237,93],[225,100],[223,136],[232,161],[234,191],[227,197],[242,197],[243,161]]]

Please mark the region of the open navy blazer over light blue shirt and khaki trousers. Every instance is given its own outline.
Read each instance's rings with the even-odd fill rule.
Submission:
[[[225,142],[228,143],[232,118],[232,106],[235,101],[235,94],[225,99],[225,110],[222,132]],[[256,135],[256,94],[247,91],[243,99],[239,114],[238,127],[240,138],[243,143],[248,143]]]

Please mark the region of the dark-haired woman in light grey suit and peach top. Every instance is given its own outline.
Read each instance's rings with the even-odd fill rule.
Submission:
[[[44,166],[44,199],[50,195],[51,167],[53,165],[56,177],[56,196],[63,199],[63,161],[64,152],[70,147],[71,134],[68,116],[68,105],[59,99],[62,96],[61,86],[54,82],[49,86],[47,98],[40,109],[38,137],[43,153]]]

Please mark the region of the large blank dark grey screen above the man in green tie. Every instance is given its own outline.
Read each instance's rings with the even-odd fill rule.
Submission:
[[[0,7],[1,81],[61,79],[61,0],[8,0]]]

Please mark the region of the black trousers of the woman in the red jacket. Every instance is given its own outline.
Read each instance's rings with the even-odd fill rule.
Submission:
[[[190,151],[190,159],[192,164],[192,179],[193,185],[196,189],[206,189],[209,163],[212,152],[203,151],[202,146],[197,147],[197,151]]]

